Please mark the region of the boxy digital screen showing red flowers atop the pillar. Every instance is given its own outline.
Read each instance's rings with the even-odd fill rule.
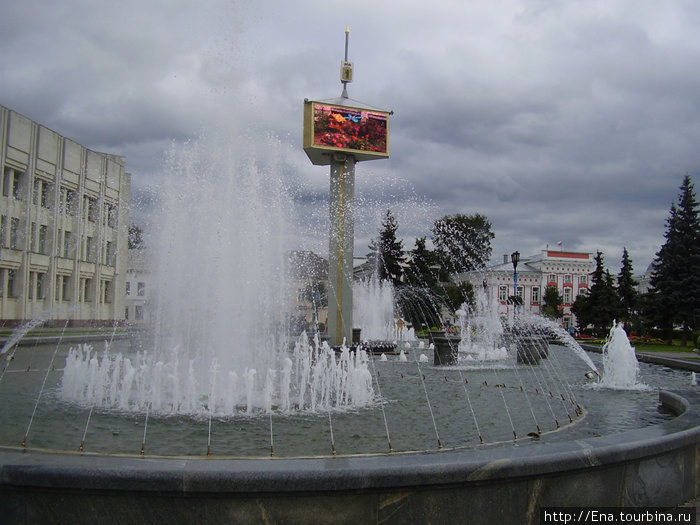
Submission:
[[[389,156],[389,113],[313,102],[305,108],[304,149],[314,164],[328,150],[359,160]],[[318,150],[318,151],[314,151]]]

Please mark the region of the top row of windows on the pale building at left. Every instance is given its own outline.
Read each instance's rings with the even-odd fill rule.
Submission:
[[[3,195],[13,199],[22,200],[22,182],[25,174],[12,168],[5,168],[3,176]],[[32,204],[42,208],[51,209],[51,193],[54,184],[39,177],[34,179],[32,192]],[[116,205],[105,202],[103,225],[116,228],[118,223],[118,208]],[[62,215],[76,216],[78,214],[78,196],[75,190],[61,186],[58,195],[58,208]],[[83,195],[82,217],[90,222],[97,222],[99,218],[99,205],[96,197]]]

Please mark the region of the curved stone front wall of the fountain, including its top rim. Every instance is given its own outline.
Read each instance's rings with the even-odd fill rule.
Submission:
[[[293,459],[52,454],[0,449],[13,523],[538,523],[551,506],[673,506],[698,495],[700,395],[678,416],[565,442]]]

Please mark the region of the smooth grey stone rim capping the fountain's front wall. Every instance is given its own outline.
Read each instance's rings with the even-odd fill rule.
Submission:
[[[700,393],[661,391],[659,398],[679,412],[677,417],[642,429],[548,443],[545,448],[533,444],[360,456],[226,459],[52,454],[2,447],[0,476],[2,487],[13,490],[283,494],[500,483],[567,472],[581,474],[587,469],[593,472],[697,447]]]

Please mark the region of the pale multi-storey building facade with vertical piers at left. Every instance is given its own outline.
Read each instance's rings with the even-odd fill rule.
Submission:
[[[0,323],[124,319],[131,176],[0,106]]]

